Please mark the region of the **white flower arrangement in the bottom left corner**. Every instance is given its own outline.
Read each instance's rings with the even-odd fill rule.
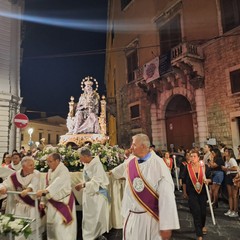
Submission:
[[[24,234],[27,238],[31,233],[30,220],[18,218],[12,214],[0,214],[0,235],[12,233],[14,236]]]

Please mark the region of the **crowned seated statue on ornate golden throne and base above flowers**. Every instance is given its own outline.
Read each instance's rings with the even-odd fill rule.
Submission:
[[[81,89],[83,93],[78,103],[74,102],[73,96],[70,97],[66,120],[68,133],[60,137],[60,145],[81,147],[87,143],[104,144],[109,139],[106,135],[106,99],[102,96],[100,100],[97,80],[85,77]]]

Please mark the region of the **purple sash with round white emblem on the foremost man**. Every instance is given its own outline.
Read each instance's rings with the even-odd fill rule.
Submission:
[[[143,178],[137,159],[134,158],[128,163],[128,181],[135,199],[149,212],[155,220],[159,221],[158,194]]]

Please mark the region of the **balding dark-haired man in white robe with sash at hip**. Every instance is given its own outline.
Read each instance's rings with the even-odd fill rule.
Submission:
[[[77,218],[75,199],[72,193],[71,177],[58,153],[47,158],[49,171],[46,185],[37,192],[41,206],[46,206],[48,240],[76,240]],[[46,196],[46,198],[42,198]]]

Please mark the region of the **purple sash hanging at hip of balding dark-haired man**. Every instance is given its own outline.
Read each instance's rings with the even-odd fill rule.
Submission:
[[[50,202],[53,205],[53,207],[55,207],[56,210],[62,215],[63,222],[66,225],[70,224],[73,220],[72,209],[73,209],[74,201],[75,199],[72,192],[70,194],[68,204],[55,201],[52,198],[48,200],[48,202]]]

